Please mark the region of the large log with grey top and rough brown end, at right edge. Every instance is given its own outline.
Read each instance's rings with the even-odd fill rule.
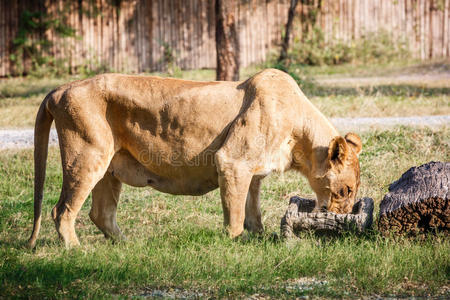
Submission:
[[[450,229],[450,163],[413,167],[389,186],[380,204],[378,229],[417,234]]]

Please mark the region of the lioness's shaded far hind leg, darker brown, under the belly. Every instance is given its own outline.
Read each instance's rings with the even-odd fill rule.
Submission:
[[[117,203],[122,183],[110,172],[92,190],[92,208],[89,217],[106,238],[123,240],[125,236],[116,222]]]

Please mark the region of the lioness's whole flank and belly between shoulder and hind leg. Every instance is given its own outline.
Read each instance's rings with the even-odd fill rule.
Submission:
[[[171,194],[217,188],[214,155],[243,106],[245,90],[238,83],[118,75],[108,80],[106,119],[116,150],[128,153],[113,160],[116,177]]]

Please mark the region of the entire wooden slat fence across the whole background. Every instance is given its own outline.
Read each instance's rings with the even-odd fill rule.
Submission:
[[[31,39],[49,41],[51,56],[65,61],[70,68],[103,64],[116,71],[143,72],[164,70],[172,59],[182,69],[214,68],[214,2],[0,0],[0,76],[17,71],[11,54],[17,47],[14,39],[23,27],[26,11],[41,12],[40,18],[47,20],[64,17],[67,25],[75,29],[74,37],[62,37],[54,28],[38,28]],[[235,15],[241,66],[264,61],[271,51],[278,51],[289,2],[239,0]],[[294,30],[299,36],[305,26],[320,26],[328,39],[345,41],[385,29],[395,38],[407,39],[417,57],[450,56],[450,0],[299,2],[297,23],[300,26]],[[305,18],[312,10],[317,12],[313,24]],[[26,69],[30,61],[25,60]]]

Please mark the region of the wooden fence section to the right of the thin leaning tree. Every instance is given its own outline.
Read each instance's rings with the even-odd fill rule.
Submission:
[[[450,57],[450,0],[303,0],[300,15],[317,9],[316,25],[328,38],[351,41],[385,31],[408,43],[422,60]],[[306,3],[306,4],[305,4]],[[305,19],[305,18],[304,18]],[[310,26],[303,22],[302,26]],[[297,34],[301,35],[301,27]]]

